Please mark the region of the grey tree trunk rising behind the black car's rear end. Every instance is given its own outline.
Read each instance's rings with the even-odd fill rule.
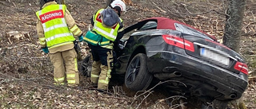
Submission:
[[[229,0],[223,44],[239,53],[246,0]]]

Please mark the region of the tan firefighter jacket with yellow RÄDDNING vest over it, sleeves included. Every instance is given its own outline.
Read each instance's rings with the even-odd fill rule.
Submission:
[[[65,5],[48,2],[36,14],[38,38],[42,48],[47,46],[50,53],[74,48],[74,37],[82,35],[82,31],[75,24]]]

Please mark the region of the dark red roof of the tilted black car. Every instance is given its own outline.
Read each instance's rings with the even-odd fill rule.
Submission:
[[[143,21],[147,21],[147,20],[157,20],[157,21],[158,21],[158,27],[157,27],[157,29],[174,29],[174,30],[176,30],[174,23],[186,25],[186,26],[188,26],[188,27],[190,27],[190,28],[192,28],[192,29],[196,29],[196,28],[194,28],[194,27],[191,26],[191,25],[187,25],[187,24],[185,24],[185,23],[182,23],[182,22],[180,22],[180,21],[175,21],[175,20],[170,19],[170,18],[156,17],[156,18],[147,18],[146,20],[143,20]],[[171,24],[171,25],[166,25],[166,24]],[[208,33],[205,33],[205,32],[203,32],[203,31],[200,30],[200,29],[196,29],[196,30],[198,30],[198,31],[201,32],[201,33],[206,34],[208,37],[212,38],[214,41],[217,41],[217,38],[216,38],[216,37],[214,37],[214,36],[212,36],[212,35],[210,35],[210,34],[208,34]]]

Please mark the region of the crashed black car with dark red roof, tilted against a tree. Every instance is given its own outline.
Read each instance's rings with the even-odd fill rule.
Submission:
[[[232,100],[248,84],[244,58],[193,26],[169,18],[148,18],[124,29],[114,49],[126,87],[146,90],[153,78],[174,92],[201,99]],[[86,59],[86,62],[88,59]],[[86,70],[85,70],[86,71]]]

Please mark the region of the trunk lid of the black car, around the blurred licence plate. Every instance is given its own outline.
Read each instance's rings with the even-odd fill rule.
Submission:
[[[183,34],[182,37],[194,44],[194,52],[185,49],[186,53],[190,56],[197,57],[222,68],[231,68],[238,60],[243,62],[241,56],[217,41],[189,34]]]

